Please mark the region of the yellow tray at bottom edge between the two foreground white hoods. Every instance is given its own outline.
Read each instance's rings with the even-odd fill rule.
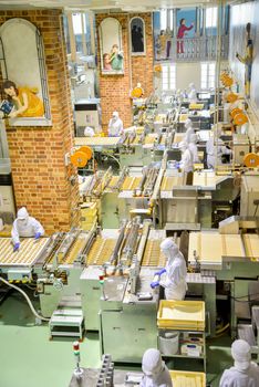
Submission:
[[[169,370],[174,387],[206,387],[204,373],[190,373],[187,370]]]

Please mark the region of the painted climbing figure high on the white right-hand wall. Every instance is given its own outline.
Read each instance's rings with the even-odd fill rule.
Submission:
[[[247,23],[246,34],[247,34],[246,54],[245,56],[241,56],[239,53],[236,53],[236,57],[241,63],[245,64],[245,91],[246,91],[246,96],[250,97],[252,51],[253,51],[252,40],[251,40],[251,23]]]

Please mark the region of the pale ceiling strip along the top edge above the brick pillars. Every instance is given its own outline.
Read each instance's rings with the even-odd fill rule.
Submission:
[[[160,8],[211,4],[216,0],[0,0],[0,9],[13,8],[64,8],[66,10],[111,10],[125,12],[148,12]]]

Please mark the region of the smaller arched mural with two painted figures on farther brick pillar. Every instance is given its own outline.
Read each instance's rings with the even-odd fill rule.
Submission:
[[[123,74],[122,25],[117,19],[106,18],[101,22],[100,50],[102,74]]]

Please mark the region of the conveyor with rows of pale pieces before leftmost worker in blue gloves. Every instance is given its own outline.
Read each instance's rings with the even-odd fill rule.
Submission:
[[[13,244],[11,238],[0,239],[0,265],[17,266],[17,265],[32,265],[45,244],[49,238],[41,238],[38,241],[34,238],[27,238],[21,240],[19,251],[13,252]]]

